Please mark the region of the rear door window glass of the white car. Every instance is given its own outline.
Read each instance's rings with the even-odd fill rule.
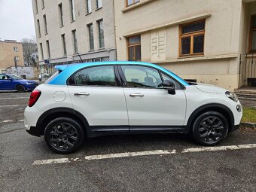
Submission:
[[[70,85],[115,86],[114,66],[96,66],[75,73],[69,79]]]

